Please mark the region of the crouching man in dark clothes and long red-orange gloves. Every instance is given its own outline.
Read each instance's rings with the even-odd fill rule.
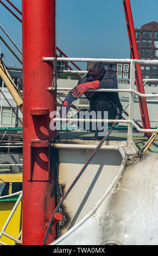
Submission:
[[[101,111],[102,119],[104,119],[104,112],[108,112],[108,119],[115,119],[117,107],[120,111],[119,119],[122,118],[123,108],[117,92],[89,92],[91,89],[118,89],[116,72],[105,70],[103,63],[90,62],[87,75],[79,80],[77,86],[68,93],[62,102],[62,107],[65,107],[63,109],[65,109],[66,113],[62,111],[61,107],[60,117],[67,116],[72,102],[84,94],[90,101],[90,111],[95,111],[96,113]],[[112,123],[108,124],[108,126],[111,125]],[[103,136],[98,136],[98,129],[96,129],[94,137],[97,139],[103,138]]]

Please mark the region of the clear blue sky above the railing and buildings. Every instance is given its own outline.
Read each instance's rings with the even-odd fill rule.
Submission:
[[[10,1],[18,9],[22,9],[21,0]],[[7,1],[3,0],[3,2],[12,9]],[[141,25],[151,21],[158,22],[157,0],[131,0],[130,3],[135,28],[140,28]],[[12,16],[2,4],[0,4],[0,23],[17,46],[22,49],[21,22]],[[21,58],[21,54],[12,46],[4,33],[2,31],[0,33]],[[56,0],[56,45],[69,57],[130,57],[123,1]],[[5,64],[21,66],[2,41],[0,46],[1,52],[5,54],[3,59]],[[78,63],[78,65],[86,69],[85,63]]]

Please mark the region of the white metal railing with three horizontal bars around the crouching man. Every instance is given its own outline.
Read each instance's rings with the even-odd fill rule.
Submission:
[[[43,58],[43,61],[53,61],[56,60],[54,57],[46,57]],[[58,61],[66,61],[66,62],[109,62],[109,63],[130,63],[130,83],[129,89],[97,89],[96,92],[128,92],[130,93],[129,96],[129,118],[128,120],[115,120],[115,119],[104,119],[104,120],[92,120],[92,119],[69,119],[69,118],[54,118],[53,121],[97,121],[97,122],[116,122],[116,123],[127,123],[128,124],[128,142],[131,143],[132,141],[132,126],[135,126],[139,132],[156,132],[158,133],[158,129],[141,129],[134,121],[134,94],[138,95],[139,97],[158,97],[158,94],[142,94],[137,92],[134,88],[135,86],[135,64],[153,64],[157,65],[158,60],[141,60],[141,59],[99,59],[99,58],[57,58]],[[144,80],[145,82],[147,81]],[[52,87],[47,88],[48,90],[53,90]],[[71,90],[72,88],[56,88],[57,90]],[[94,90],[91,90],[94,91]]]

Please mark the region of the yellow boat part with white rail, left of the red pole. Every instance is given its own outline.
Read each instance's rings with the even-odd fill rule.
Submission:
[[[22,229],[22,194],[21,191],[12,193],[12,189],[18,190],[22,184],[22,173],[0,174],[1,184],[5,185],[4,194],[9,194],[0,197],[0,244],[15,245],[20,239]]]

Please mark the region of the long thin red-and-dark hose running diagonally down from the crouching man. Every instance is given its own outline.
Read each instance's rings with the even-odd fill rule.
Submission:
[[[119,109],[117,108],[117,115],[116,115],[116,120],[119,119]],[[104,141],[109,137],[110,133],[113,130],[113,127],[115,127],[117,125],[117,123],[113,123],[111,126],[111,129],[108,131],[108,133],[106,133],[105,137],[102,139],[102,141],[100,141],[100,143],[97,145],[97,148],[94,149],[93,153],[91,154],[91,156],[89,157],[89,159],[87,160],[87,162],[85,163],[84,167],[81,169],[80,173],[78,174],[78,176],[75,178],[75,180],[73,181],[73,183],[71,184],[71,186],[68,188],[67,192],[65,193],[65,195],[61,198],[59,204],[56,206],[52,217],[50,218],[48,227],[47,227],[47,231],[46,231],[46,235],[45,235],[45,240],[43,242],[43,245],[46,245],[47,239],[48,239],[48,234],[49,234],[49,230],[50,227],[52,225],[53,222],[53,218],[55,213],[58,211],[60,205],[64,202],[65,198],[67,197],[68,193],[72,190],[72,188],[74,187],[75,183],[79,180],[80,176],[83,174],[84,170],[86,169],[86,167],[89,165],[89,163],[91,162],[92,158],[94,157],[94,155],[96,155],[97,151],[99,150],[99,148],[102,146],[102,144],[104,143]]]

